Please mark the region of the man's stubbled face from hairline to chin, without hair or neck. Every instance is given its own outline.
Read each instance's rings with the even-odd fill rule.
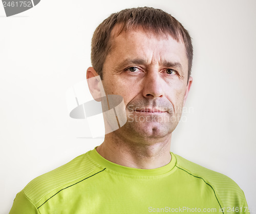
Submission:
[[[116,132],[138,138],[172,133],[192,82],[190,78],[187,84],[184,44],[143,30],[122,32],[112,42],[103,66],[103,87],[105,94],[123,97],[127,114],[126,124]]]

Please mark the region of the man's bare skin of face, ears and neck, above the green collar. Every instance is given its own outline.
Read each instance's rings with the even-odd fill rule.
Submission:
[[[103,65],[105,94],[123,97],[127,122],[106,134],[97,152],[119,165],[152,169],[172,159],[170,141],[182,114],[193,81],[188,76],[188,60],[182,41],[172,36],[156,36],[138,28],[115,36],[114,48]],[[97,76],[92,68],[87,78]],[[102,89],[90,82],[94,97]]]

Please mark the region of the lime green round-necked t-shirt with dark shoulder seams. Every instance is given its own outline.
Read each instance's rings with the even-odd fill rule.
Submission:
[[[165,166],[138,169],[112,163],[94,149],[32,180],[10,213],[249,213],[233,180],[171,155]]]

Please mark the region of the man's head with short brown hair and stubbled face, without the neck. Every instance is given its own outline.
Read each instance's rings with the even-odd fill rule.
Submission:
[[[126,9],[100,24],[87,77],[100,75],[106,95],[123,97],[127,122],[117,135],[152,139],[175,130],[193,80],[192,57],[187,31],[162,10]],[[100,97],[97,82],[89,88]]]

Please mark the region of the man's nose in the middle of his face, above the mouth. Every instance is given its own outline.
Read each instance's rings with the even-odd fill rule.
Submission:
[[[148,72],[143,81],[143,96],[145,98],[163,97],[162,79],[158,72]]]

